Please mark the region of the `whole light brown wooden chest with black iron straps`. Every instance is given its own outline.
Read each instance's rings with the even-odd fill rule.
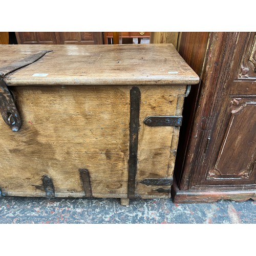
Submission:
[[[0,53],[2,196],[170,197],[187,84],[199,82],[173,45]]]

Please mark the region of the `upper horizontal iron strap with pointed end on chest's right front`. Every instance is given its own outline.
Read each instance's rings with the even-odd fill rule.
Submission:
[[[181,126],[182,116],[148,116],[144,123],[148,126]]]

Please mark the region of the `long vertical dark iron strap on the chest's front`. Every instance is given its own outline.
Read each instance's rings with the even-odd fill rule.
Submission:
[[[130,147],[129,147],[129,174],[128,174],[128,198],[134,198],[135,178],[137,172],[138,133],[140,114],[140,90],[133,87],[130,91]]]

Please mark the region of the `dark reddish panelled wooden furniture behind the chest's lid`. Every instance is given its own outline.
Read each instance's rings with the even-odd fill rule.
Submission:
[[[102,45],[102,32],[15,32],[18,44]]]

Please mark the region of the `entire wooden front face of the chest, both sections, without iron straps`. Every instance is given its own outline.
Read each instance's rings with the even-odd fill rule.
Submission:
[[[93,197],[127,198],[132,86],[12,87],[23,124],[14,133],[0,118],[0,188],[3,195],[45,196],[42,177],[56,197],[84,197],[79,169],[89,170]],[[179,128],[150,127],[148,115],[179,115],[185,86],[141,86],[135,194],[168,198],[144,178],[168,178]],[[178,102],[178,103],[177,103]]]

